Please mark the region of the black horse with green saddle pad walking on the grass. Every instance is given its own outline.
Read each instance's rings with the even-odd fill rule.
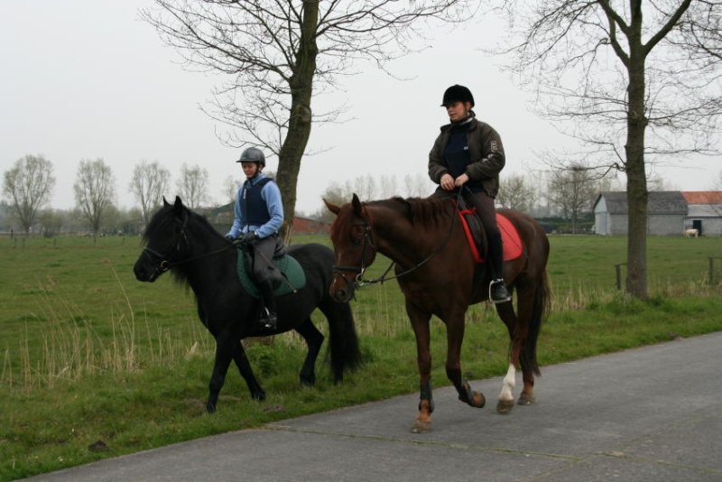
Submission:
[[[255,379],[241,339],[269,335],[256,327],[260,301],[249,294],[236,270],[238,249],[218,234],[208,220],[183,206],[176,197],[153,215],[143,233],[146,246],[134,265],[138,281],[153,283],[170,271],[196,294],[200,321],[216,338],[216,362],[208,386],[208,412],[215,412],[218,394],[231,359],[245,379],[251,395],[264,400],[263,387]],[[316,381],[315,365],[323,335],[310,315],[317,308],[329,320],[330,364],[334,383],[343,380],[346,369],[356,368],[361,355],[351,308],[329,295],[333,279],[333,251],[317,244],[286,248],[305,273],[305,285],[277,297],[278,328],[273,333],[295,329],[306,341],[309,353],[301,367],[301,385]]]

